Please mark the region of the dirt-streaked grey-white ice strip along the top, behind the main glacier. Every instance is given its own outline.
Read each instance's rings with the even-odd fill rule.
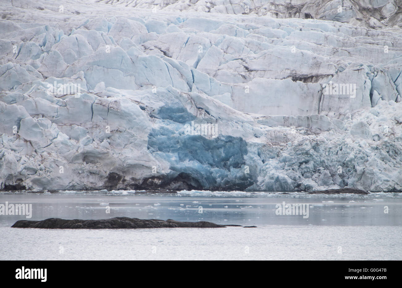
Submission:
[[[402,25],[400,0],[98,0],[154,11],[199,11],[254,14],[270,18],[302,18],[347,22],[371,28]]]

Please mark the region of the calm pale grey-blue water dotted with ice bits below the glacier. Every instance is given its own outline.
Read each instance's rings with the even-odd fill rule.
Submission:
[[[0,193],[5,201],[32,204],[31,220],[125,216],[257,228],[20,229],[10,226],[24,215],[0,215],[0,260],[402,260],[398,193]],[[309,217],[276,215],[283,202],[308,204]]]

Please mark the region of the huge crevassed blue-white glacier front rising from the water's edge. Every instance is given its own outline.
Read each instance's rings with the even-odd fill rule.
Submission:
[[[0,4],[0,188],[402,191],[399,2],[100,2]]]

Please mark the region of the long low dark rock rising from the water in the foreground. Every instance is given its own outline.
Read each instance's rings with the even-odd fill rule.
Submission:
[[[43,229],[137,229],[137,228],[222,228],[224,225],[200,221],[180,222],[172,219],[138,219],[129,217],[114,217],[111,219],[82,220],[49,218],[42,221],[19,220],[11,227],[14,228],[43,228]]]

